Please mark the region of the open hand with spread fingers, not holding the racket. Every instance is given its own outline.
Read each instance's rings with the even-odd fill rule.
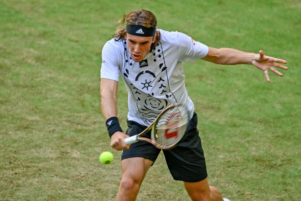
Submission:
[[[276,68],[282,68],[284,70],[288,69],[288,67],[283,66],[279,63],[287,63],[287,61],[283,59],[265,56],[262,50],[259,51],[259,54],[256,54],[254,60],[252,61],[252,64],[254,66],[256,66],[264,72],[268,82],[270,82],[269,74],[267,72],[268,69],[270,69],[272,72],[276,73],[279,76],[283,76],[283,74],[277,71],[275,68],[273,68],[273,66]]]

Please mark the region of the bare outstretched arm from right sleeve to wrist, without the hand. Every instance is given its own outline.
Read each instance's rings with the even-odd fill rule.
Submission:
[[[208,54],[202,60],[223,65],[252,64],[256,54],[232,48],[209,47]]]

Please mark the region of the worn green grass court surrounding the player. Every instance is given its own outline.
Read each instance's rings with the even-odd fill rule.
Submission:
[[[298,200],[301,188],[301,3],[0,0],[1,200],[114,200],[120,151],[101,114],[101,50],[117,21],[148,9],[158,28],[208,46],[262,49],[284,76],[248,65],[185,63],[210,185],[230,200]],[[127,93],[118,89],[126,128]],[[98,156],[115,160],[101,165]],[[189,200],[159,155],[137,200]]]

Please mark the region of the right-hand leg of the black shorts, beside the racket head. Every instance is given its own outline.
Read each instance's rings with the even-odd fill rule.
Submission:
[[[174,149],[164,150],[167,166],[175,180],[199,182],[207,178],[206,162],[198,136],[197,116],[189,124],[186,138]]]

